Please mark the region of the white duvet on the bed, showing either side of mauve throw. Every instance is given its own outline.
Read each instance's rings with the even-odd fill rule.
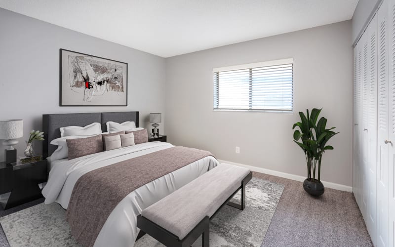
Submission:
[[[165,142],[147,142],[87,155],[73,160],[51,162],[48,182],[42,190],[45,204],[59,203],[67,209],[74,185],[83,174],[124,160],[174,147]],[[218,165],[205,157],[164,175],[128,194],[114,208],[101,229],[95,247],[131,247],[137,238],[136,217],[141,211]],[[94,210],[94,208],[92,208]]]

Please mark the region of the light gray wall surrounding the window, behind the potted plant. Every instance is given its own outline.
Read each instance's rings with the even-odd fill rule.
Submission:
[[[323,107],[321,116],[340,134],[323,156],[321,179],[351,186],[351,42],[351,21],[345,21],[168,58],[168,140],[210,150],[217,159],[306,176],[292,124],[299,111]],[[293,113],[213,111],[213,68],[282,58],[294,59]]]

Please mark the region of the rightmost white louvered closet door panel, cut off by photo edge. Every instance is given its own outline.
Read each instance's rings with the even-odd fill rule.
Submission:
[[[390,57],[389,57],[389,84],[390,84],[390,135],[389,139],[393,145],[389,146],[390,149],[390,162],[389,162],[389,246],[395,247],[395,0],[390,0],[389,4],[389,30],[390,30]]]

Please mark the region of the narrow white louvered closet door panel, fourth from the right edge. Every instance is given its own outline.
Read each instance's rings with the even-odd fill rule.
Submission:
[[[362,67],[361,67],[361,77],[362,77],[362,147],[361,147],[361,157],[362,162],[360,162],[360,179],[361,179],[361,200],[362,200],[362,214],[367,215],[368,211],[368,166],[369,166],[369,133],[368,133],[368,119],[369,119],[369,57],[368,57],[368,35],[364,35],[360,39],[362,44],[361,56],[362,56]]]

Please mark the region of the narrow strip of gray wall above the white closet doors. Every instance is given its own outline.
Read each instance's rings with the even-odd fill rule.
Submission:
[[[352,26],[353,26],[353,42],[356,41],[360,32],[366,27],[369,17],[374,13],[377,6],[383,0],[359,0],[354,11]]]

